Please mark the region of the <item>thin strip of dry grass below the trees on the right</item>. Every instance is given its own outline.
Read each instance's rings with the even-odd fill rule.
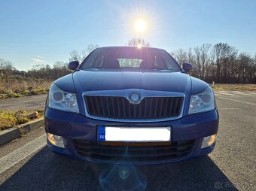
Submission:
[[[247,90],[247,91],[256,91],[256,84],[224,84],[219,83],[215,84],[212,87],[214,90]]]

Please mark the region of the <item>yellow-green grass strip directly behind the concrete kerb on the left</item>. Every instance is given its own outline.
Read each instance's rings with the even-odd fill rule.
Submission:
[[[39,109],[35,111],[38,112],[38,117],[44,116],[44,109]],[[34,120],[35,117],[32,119],[29,119],[28,117],[17,117],[17,114],[30,114],[30,113],[32,113],[32,111],[24,111],[24,110],[0,111],[0,131]]]

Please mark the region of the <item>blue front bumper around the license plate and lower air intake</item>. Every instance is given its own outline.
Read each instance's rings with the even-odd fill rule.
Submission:
[[[65,149],[55,147],[48,142],[48,146],[56,153],[62,153],[79,159],[85,159],[92,162],[105,163],[127,163],[127,161],[114,159],[95,159],[93,157],[84,158],[78,153],[74,146],[74,141],[82,140],[87,143],[97,144],[97,126],[171,126],[172,142],[193,141],[193,147],[186,156],[176,157],[173,159],[154,158],[150,161],[142,161],[139,158],[133,161],[133,164],[159,164],[166,162],[178,162],[184,159],[193,158],[194,156],[206,155],[215,147],[200,149],[203,138],[214,135],[218,132],[218,111],[209,111],[202,114],[191,114],[178,120],[158,122],[158,123],[120,123],[108,122],[103,120],[93,120],[81,114],[73,114],[65,111],[56,111],[51,108],[45,110],[45,130],[53,135],[62,136]],[[150,146],[148,146],[150,147]],[[159,146],[160,147],[160,146]],[[129,154],[129,153],[126,153]]]

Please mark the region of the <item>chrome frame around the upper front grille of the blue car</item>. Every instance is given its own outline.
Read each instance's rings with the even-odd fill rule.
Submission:
[[[131,92],[139,92],[139,94],[142,96],[142,100],[148,97],[183,97],[183,101],[181,104],[181,111],[180,114],[178,116],[175,117],[167,117],[167,118],[160,118],[160,119],[143,119],[143,120],[127,120],[127,119],[115,119],[115,118],[108,118],[108,117],[97,117],[97,116],[93,116],[91,114],[89,114],[88,109],[87,109],[87,103],[85,101],[85,96],[87,95],[94,95],[94,96],[100,96],[100,97],[123,97],[126,98],[129,101],[128,96],[130,95]],[[121,90],[100,90],[100,91],[90,91],[90,92],[83,92],[82,94],[82,99],[84,102],[84,110],[85,110],[85,115],[87,117],[90,117],[92,119],[95,120],[106,120],[106,121],[115,121],[115,122],[160,122],[160,121],[168,121],[168,120],[177,120],[179,118],[182,117],[183,115],[183,111],[184,111],[184,102],[185,102],[185,95],[184,93],[181,92],[163,92],[163,91],[154,91],[154,90],[145,90],[145,89],[121,89]],[[125,100],[125,99],[123,99]],[[151,99],[152,100],[152,99]],[[107,102],[107,107],[109,108],[109,105],[113,105],[114,101],[113,99],[111,99],[112,102]],[[145,99],[146,102],[149,102],[148,104],[150,105],[150,108],[155,107],[155,105],[157,105],[157,103],[152,103],[152,101],[150,102],[150,99],[147,100]],[[92,101],[91,101],[92,102]],[[98,100],[96,99],[96,102],[98,102]],[[100,99],[100,102],[103,102],[102,98]],[[163,102],[163,101],[160,101]],[[121,104],[121,103],[120,103]],[[99,105],[96,104],[97,107],[93,108],[93,110],[97,110],[99,111]],[[125,102],[122,102],[122,105],[124,107]],[[131,104],[132,105],[132,104]],[[130,105],[130,106],[131,106]],[[129,110],[131,110],[132,108],[129,106]],[[176,106],[177,107],[177,106]],[[117,105],[117,110],[120,111],[121,106]],[[141,109],[141,107],[140,107]],[[167,109],[167,107],[166,107]],[[152,109],[150,109],[150,111],[152,111]],[[134,111],[136,112],[136,111]],[[156,111],[155,111],[156,112]],[[110,114],[111,111],[108,110],[108,114]],[[131,112],[129,112],[129,114],[131,114]],[[115,114],[113,114],[114,116]],[[143,115],[142,111],[139,111],[139,116]],[[154,114],[155,115],[155,114]],[[118,116],[117,117],[122,117],[122,114],[120,112],[118,112]]]

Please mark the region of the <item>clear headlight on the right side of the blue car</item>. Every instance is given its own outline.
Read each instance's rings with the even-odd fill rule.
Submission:
[[[212,88],[209,86],[206,91],[197,95],[191,95],[188,114],[211,111],[215,108],[215,96]]]

